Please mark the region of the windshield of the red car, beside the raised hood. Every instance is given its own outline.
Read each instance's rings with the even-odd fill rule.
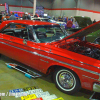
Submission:
[[[40,43],[55,42],[67,36],[67,33],[59,25],[33,26]]]

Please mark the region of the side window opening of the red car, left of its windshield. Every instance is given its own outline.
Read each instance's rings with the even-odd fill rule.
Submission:
[[[2,33],[30,41],[34,40],[30,26],[25,24],[11,23],[2,31]]]

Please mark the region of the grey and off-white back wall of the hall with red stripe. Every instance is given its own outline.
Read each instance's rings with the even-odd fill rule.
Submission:
[[[32,1],[29,0],[0,0],[0,3],[5,2],[10,6],[10,11],[23,11],[32,13]],[[22,7],[21,7],[22,6]],[[43,6],[45,13],[50,16],[89,16],[92,19],[100,19],[100,0],[37,0],[37,6]],[[26,8],[25,8],[26,7]],[[30,7],[30,8],[29,8]],[[5,10],[4,6],[0,6],[0,10]],[[97,12],[96,12],[97,11]]]

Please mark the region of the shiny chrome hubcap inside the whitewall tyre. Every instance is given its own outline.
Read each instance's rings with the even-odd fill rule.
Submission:
[[[74,85],[74,78],[68,72],[62,72],[59,74],[59,83],[62,87],[71,89]]]

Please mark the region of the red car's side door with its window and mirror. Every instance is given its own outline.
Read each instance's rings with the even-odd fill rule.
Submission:
[[[13,23],[14,24],[14,23]],[[15,24],[17,27],[18,24]],[[29,40],[29,33],[27,29],[27,25],[22,25],[24,26],[23,28],[10,28],[10,30],[14,30],[14,36],[7,35],[6,38],[5,36],[5,30],[3,30],[3,39],[7,41],[9,40],[9,49],[7,50],[6,48],[3,48],[4,51],[8,51],[9,55],[5,53],[5,55],[12,57],[13,59],[24,63],[28,66],[31,66],[33,68],[38,67],[38,60],[39,57],[37,55],[34,55],[33,52],[35,52],[33,49],[33,46],[31,47],[30,45],[30,40]],[[6,31],[7,32],[7,31]],[[32,49],[32,50],[31,50]],[[10,56],[11,54],[11,56]],[[31,57],[32,56],[32,57]]]

